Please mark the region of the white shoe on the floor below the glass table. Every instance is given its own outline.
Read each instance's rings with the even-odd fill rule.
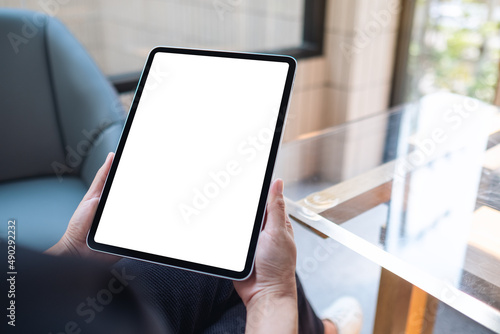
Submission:
[[[363,324],[363,310],[356,299],[346,296],[330,305],[321,318],[333,322],[338,334],[359,334]]]

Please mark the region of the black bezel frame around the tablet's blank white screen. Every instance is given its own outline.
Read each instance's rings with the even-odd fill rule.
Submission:
[[[273,141],[271,144],[271,151],[269,154],[269,159],[266,167],[264,182],[262,185],[262,190],[260,194],[259,204],[257,207],[257,212],[255,215],[254,227],[252,230],[252,236],[250,239],[250,245],[247,252],[247,258],[245,261],[245,267],[243,271],[232,271],[224,268],[218,268],[213,266],[208,266],[204,264],[179,260],[175,258],[155,255],[151,253],[140,252],[136,250],[111,246],[107,244],[98,243],[95,241],[95,233],[97,231],[99,221],[101,219],[101,215],[106,204],[106,200],[111,188],[111,184],[113,183],[114,176],[116,174],[116,170],[118,164],[120,163],[120,158],[125,147],[125,142],[127,141],[127,137],[132,126],[132,122],[134,120],[134,116],[137,110],[137,106],[139,100],[141,98],[144,85],[146,82],[146,78],[148,77],[149,70],[151,68],[151,64],[153,59],[157,53],[177,53],[177,54],[188,54],[188,55],[200,55],[200,56],[211,56],[211,57],[222,57],[222,58],[236,58],[236,59],[250,59],[250,60],[260,60],[260,61],[272,61],[272,62],[281,62],[287,63],[288,73],[286,77],[285,87],[283,88],[283,94],[281,97],[281,103],[279,108],[279,115],[276,122],[276,128],[274,131]],[[257,247],[257,242],[259,238],[259,233],[262,228],[262,224],[264,221],[265,210],[266,210],[266,202],[267,196],[269,192],[269,187],[271,184],[271,178],[273,175],[274,165],[276,161],[276,156],[278,153],[278,147],[281,142],[281,138],[283,135],[283,127],[285,124],[286,112],[288,109],[288,104],[290,101],[290,96],[293,87],[293,81],[295,76],[297,63],[294,58],[290,56],[282,56],[282,55],[270,55],[270,54],[256,54],[256,53],[243,53],[243,52],[228,52],[228,51],[215,51],[215,50],[200,50],[200,49],[185,49],[185,48],[172,48],[172,47],[156,47],[149,53],[146,64],[144,65],[144,69],[141,74],[141,78],[139,80],[139,84],[135,91],[134,99],[132,105],[130,107],[130,112],[128,114],[127,120],[125,122],[123,132],[118,143],[118,147],[116,149],[115,157],[113,163],[111,165],[111,169],[109,171],[106,183],[104,185],[104,189],[102,191],[101,198],[99,200],[99,205],[97,207],[97,211],[92,222],[92,226],[90,228],[89,234],[87,236],[87,245],[96,251],[115,254],[119,256],[135,258],[139,260],[156,262],[159,264],[182,268],[190,271],[205,273],[214,276],[220,276],[224,278],[229,278],[233,280],[242,280],[248,277],[253,269],[253,262],[255,258],[255,251]]]

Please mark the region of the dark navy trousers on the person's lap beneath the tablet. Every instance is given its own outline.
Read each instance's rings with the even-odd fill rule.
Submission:
[[[173,333],[244,333],[246,309],[230,280],[124,259],[118,263],[137,278],[131,283]],[[323,333],[297,277],[299,333]]]

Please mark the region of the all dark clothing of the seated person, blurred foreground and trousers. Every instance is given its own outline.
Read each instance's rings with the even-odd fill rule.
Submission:
[[[15,301],[7,310],[15,326],[4,319],[2,333],[245,332],[246,309],[230,280],[130,259],[109,268],[21,248],[15,266],[14,278],[2,280],[2,291],[15,292],[2,298],[4,310]],[[299,332],[323,333],[298,279],[297,291]]]

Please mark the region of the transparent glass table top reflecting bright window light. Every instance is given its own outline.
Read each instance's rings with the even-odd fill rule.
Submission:
[[[436,93],[283,144],[287,210],[500,332],[500,111]]]

